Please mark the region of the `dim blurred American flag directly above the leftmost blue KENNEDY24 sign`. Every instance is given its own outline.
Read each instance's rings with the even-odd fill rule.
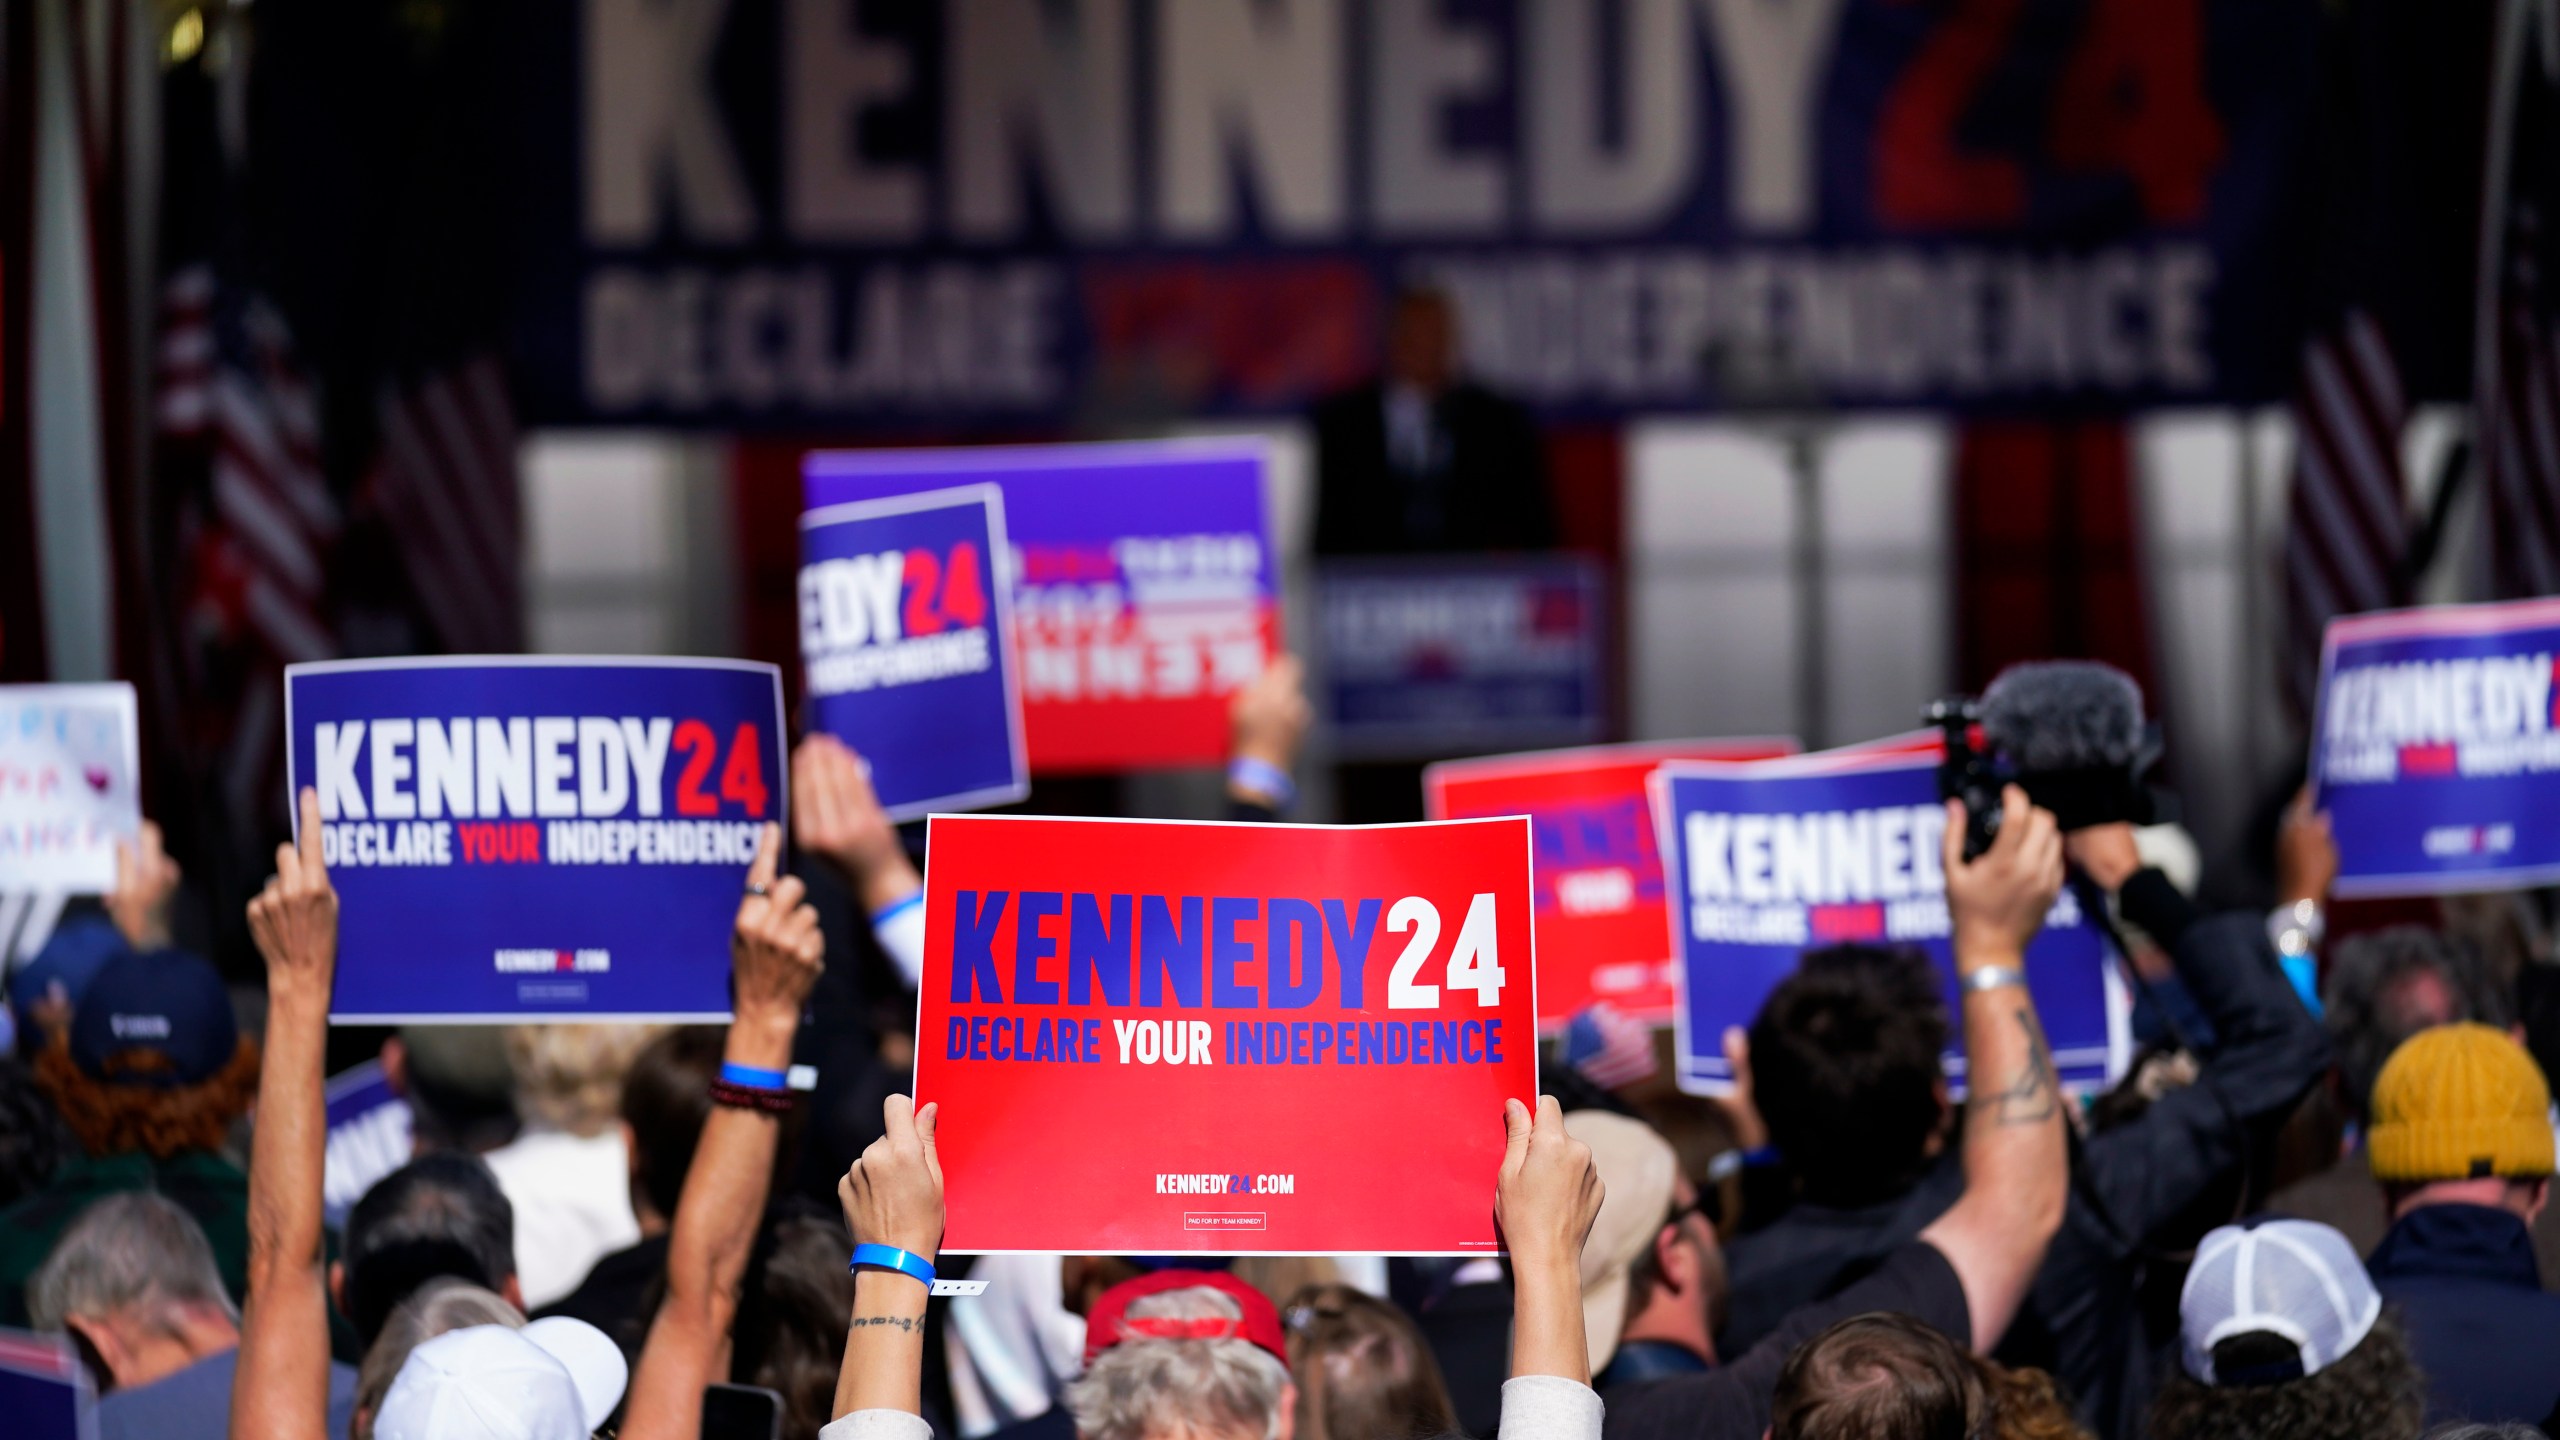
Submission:
[[[497,356],[387,389],[379,418],[369,495],[438,641],[458,653],[525,648],[515,410]]]

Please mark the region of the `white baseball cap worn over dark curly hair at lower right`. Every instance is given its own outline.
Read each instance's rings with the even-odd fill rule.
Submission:
[[[2179,1294],[2186,1373],[2214,1386],[2281,1384],[2317,1376],[2363,1345],[2383,1312],[2348,1238],[2317,1220],[2225,1225],[2196,1245]],[[2232,1335],[2281,1335],[2301,1371],[2220,1376],[2214,1345]]]

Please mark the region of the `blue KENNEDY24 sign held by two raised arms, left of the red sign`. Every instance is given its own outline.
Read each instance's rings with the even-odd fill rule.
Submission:
[[[328,661],[284,710],[340,897],[330,1020],[727,1020],[788,792],[776,666]]]

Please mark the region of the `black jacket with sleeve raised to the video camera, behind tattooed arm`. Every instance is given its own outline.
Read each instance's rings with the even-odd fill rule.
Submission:
[[[2107,1440],[2135,1440],[2173,1363],[2176,1261],[2230,1220],[2253,1156],[2330,1066],[2330,1040],[2286,984],[2255,915],[2199,917],[2158,871],[2120,897],[2125,917],[2168,951],[2214,1027],[2196,1084],[2076,1150],[2063,1227],[2045,1253],[2002,1358],[2033,1363],[2079,1396]],[[1964,1191],[1953,1150],[1905,1197],[1866,1209],[1797,1207],[1733,1243],[1733,1309],[1718,1353],[1741,1353],[1769,1317],[1866,1273]],[[2168,1304],[2145,1307],[2145,1297]]]

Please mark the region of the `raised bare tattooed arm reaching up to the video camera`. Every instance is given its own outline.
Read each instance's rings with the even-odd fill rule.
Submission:
[[[1948,802],[1943,861],[1964,989],[1964,1199],[1920,1238],[1956,1271],[1974,1348],[1989,1350],[2035,1281],[2071,1186],[2068,1099],[2025,986],[2028,940],[2063,884],[2063,840],[2053,815],[2010,787],[1999,840],[1974,863],[1964,861],[1964,812]]]

